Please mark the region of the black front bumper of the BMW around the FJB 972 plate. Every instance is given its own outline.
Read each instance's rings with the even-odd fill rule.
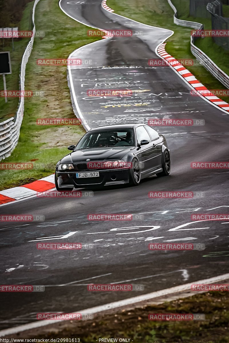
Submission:
[[[85,170],[87,172],[89,170]],[[90,170],[91,171],[91,170]],[[94,170],[95,171],[95,170]],[[76,178],[77,171],[56,171],[56,178],[59,188],[79,188],[90,185],[122,185],[129,182],[130,169],[109,169],[97,170],[99,177]],[[79,171],[78,171],[79,172]],[[81,171],[83,172],[83,171]]]

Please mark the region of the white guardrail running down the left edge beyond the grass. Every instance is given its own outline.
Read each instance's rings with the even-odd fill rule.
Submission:
[[[30,57],[31,51],[33,49],[33,42],[34,42],[34,35],[36,32],[35,23],[34,23],[34,15],[35,15],[35,8],[37,3],[40,0],[35,0],[33,5],[33,36],[28,43],[25,52],[22,56],[21,61],[21,72],[20,72],[20,90],[25,90],[25,68],[28,62],[28,58]],[[24,97],[20,98],[18,110],[16,112],[16,116],[9,118],[0,123],[0,160],[10,156],[11,152],[18,144],[19,134],[21,123],[24,115]]]

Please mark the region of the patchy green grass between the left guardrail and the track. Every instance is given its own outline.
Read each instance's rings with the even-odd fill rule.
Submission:
[[[41,126],[37,118],[76,118],[71,105],[65,66],[38,66],[38,58],[67,58],[69,54],[98,40],[87,36],[88,27],[69,18],[56,0],[41,0],[35,11],[37,30],[44,38],[35,38],[26,67],[26,90],[44,96],[25,98],[24,118],[18,145],[2,163],[34,162],[29,170],[0,170],[0,190],[21,186],[54,173],[57,161],[85,133],[82,126]]]

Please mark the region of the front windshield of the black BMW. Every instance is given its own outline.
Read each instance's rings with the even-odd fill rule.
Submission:
[[[75,150],[112,146],[135,146],[133,129],[89,131],[79,141]]]

